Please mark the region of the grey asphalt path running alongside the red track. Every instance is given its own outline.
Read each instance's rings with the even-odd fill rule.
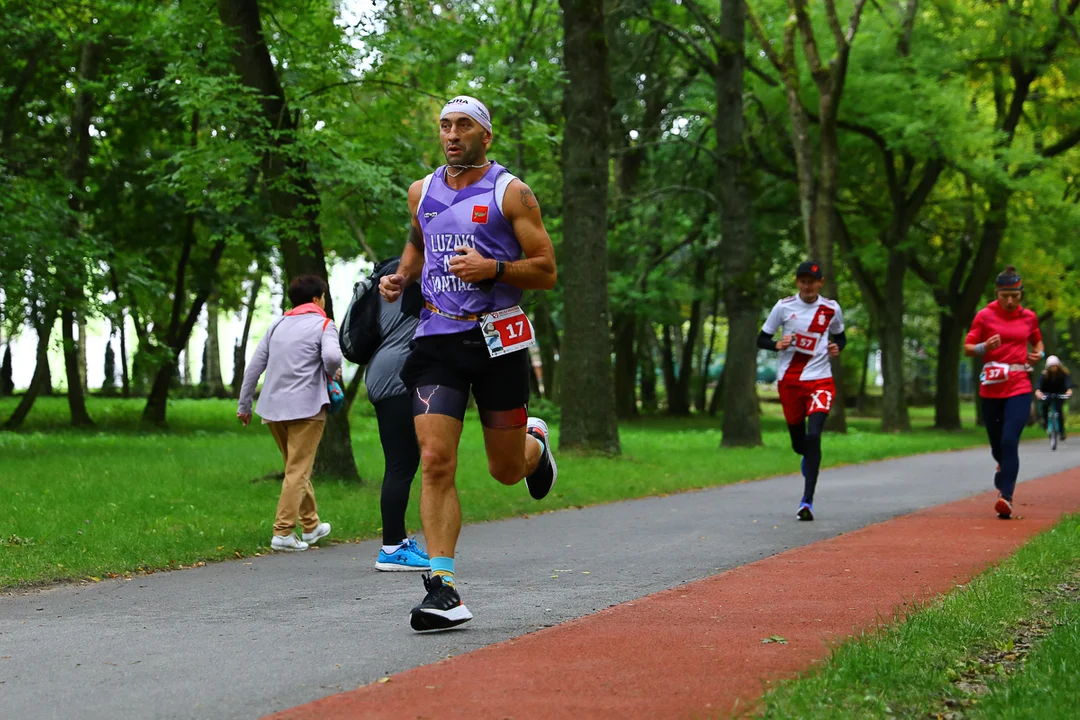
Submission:
[[[1080,443],[1021,454],[1030,479],[1080,465]],[[984,492],[993,468],[980,449],[831,470],[812,524],[786,476],[470,526],[475,619],[437,635],[409,629],[419,575],[377,572],[375,541],[0,596],[0,718],[257,718]]]

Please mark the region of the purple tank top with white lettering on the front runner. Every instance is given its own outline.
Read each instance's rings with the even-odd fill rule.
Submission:
[[[516,305],[522,290],[505,283],[496,283],[486,294],[471,283],[454,276],[449,270],[454,248],[475,247],[487,258],[518,260],[522,246],[514,229],[502,215],[496,198],[496,180],[507,168],[491,163],[478,181],[455,190],[446,185],[446,166],[435,171],[428,192],[417,208],[417,220],[423,232],[423,273],[420,289],[423,299],[445,313],[470,315],[495,312]],[[416,337],[449,335],[476,327],[474,321],[457,321],[435,314],[427,308],[420,313]]]

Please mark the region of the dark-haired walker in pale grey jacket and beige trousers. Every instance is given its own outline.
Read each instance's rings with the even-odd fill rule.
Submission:
[[[300,275],[288,286],[293,309],[262,336],[244,372],[237,417],[252,421],[252,398],[267,373],[255,411],[268,425],[285,461],[285,480],[278,500],[270,549],[306,551],[330,532],[319,519],[311,468],[326,425],[327,378],[341,375],[341,347],[334,322],[326,317],[326,282]],[[295,534],[296,519],[303,529]]]

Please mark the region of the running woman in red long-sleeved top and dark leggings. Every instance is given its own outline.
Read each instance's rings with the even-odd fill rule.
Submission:
[[[996,285],[997,299],[975,315],[963,353],[983,358],[978,394],[990,454],[998,462],[994,510],[1009,518],[1020,473],[1020,436],[1031,412],[1030,366],[1045,353],[1038,316],[1021,305],[1024,284],[1016,269],[1005,268]]]

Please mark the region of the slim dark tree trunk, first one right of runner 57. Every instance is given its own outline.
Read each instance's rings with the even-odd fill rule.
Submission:
[[[886,271],[885,308],[880,344],[881,373],[885,376],[881,430],[906,433],[912,430],[904,392],[904,271],[907,262],[896,250],[889,250]]]

